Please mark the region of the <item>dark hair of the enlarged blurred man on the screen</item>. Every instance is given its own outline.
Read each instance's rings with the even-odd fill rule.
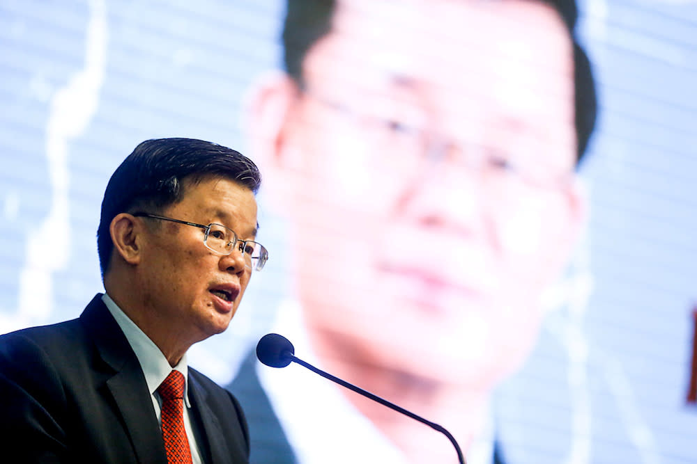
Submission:
[[[595,127],[597,97],[590,61],[576,40],[576,2],[574,0],[539,1],[558,11],[567,26],[574,45],[574,107],[576,125],[576,163],[581,161]],[[335,0],[288,0],[283,27],[284,66],[286,72],[302,88],[302,61],[315,42],[332,29]]]

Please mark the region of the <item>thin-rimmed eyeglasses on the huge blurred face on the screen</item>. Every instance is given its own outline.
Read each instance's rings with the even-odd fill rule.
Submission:
[[[390,153],[398,156],[398,166],[391,163],[390,168],[420,172],[428,163],[445,158],[457,159],[458,163],[480,173],[482,181],[493,191],[505,189],[512,191],[514,196],[516,193],[512,187],[555,189],[569,184],[573,178],[571,171],[541,163],[540,157],[533,155],[539,150],[549,150],[544,142],[528,140],[505,146],[504,141],[493,141],[491,145],[456,141],[453,137],[429,129],[428,120],[424,120],[428,119],[429,112],[425,109],[415,107],[413,111],[392,115],[390,110],[385,113],[381,109],[362,109],[324,97],[308,88],[301,90],[303,95],[339,115],[346,131],[357,131],[355,140],[365,143],[369,150],[385,156]],[[457,156],[453,157],[456,153]]]

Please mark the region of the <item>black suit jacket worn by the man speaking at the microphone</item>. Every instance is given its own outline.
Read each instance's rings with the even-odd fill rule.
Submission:
[[[189,369],[191,419],[206,463],[247,463],[240,404]],[[138,359],[101,295],[79,317],[0,337],[3,462],[167,464]]]

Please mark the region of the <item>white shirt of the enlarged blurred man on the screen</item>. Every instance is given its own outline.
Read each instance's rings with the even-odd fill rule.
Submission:
[[[286,302],[277,314],[274,330],[291,340],[298,358],[322,369],[302,326],[300,305]],[[406,463],[401,449],[348,401],[339,390],[343,387],[294,362],[284,369],[261,364],[256,369],[300,464]],[[424,425],[423,433],[438,431]],[[487,426],[470,445],[468,464],[491,464],[492,437],[492,429]],[[351,446],[347,447],[348,443]],[[454,448],[452,454],[455,459]]]

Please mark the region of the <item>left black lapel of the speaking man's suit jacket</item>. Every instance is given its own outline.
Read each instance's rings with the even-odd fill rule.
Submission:
[[[123,419],[137,461],[167,464],[160,425],[140,363],[100,294],[87,305],[80,319],[93,336],[102,360],[114,371],[106,382],[107,389],[116,401],[116,412]]]

